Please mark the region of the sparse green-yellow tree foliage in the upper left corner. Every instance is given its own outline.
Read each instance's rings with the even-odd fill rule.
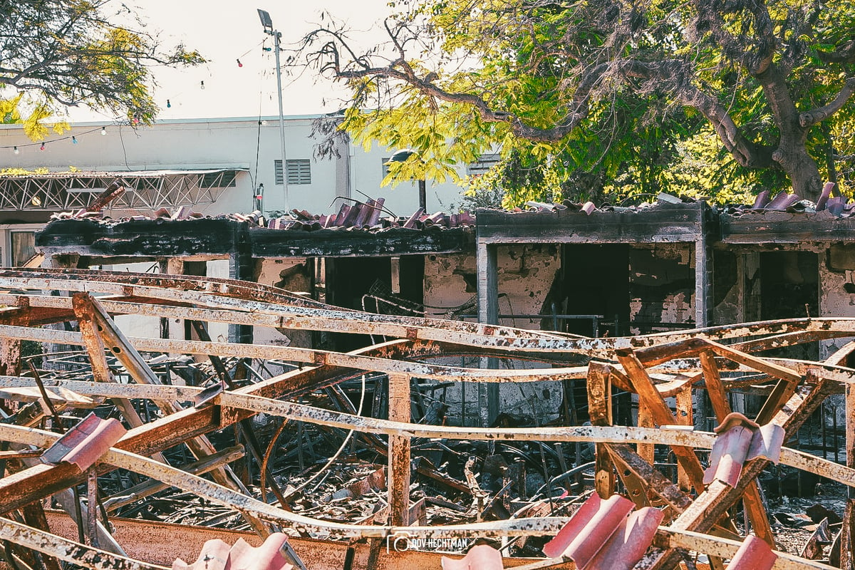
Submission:
[[[150,67],[204,62],[196,51],[180,45],[163,51],[147,33],[111,23],[104,15],[109,5],[109,0],[0,3],[4,122],[22,122],[27,136],[38,140],[49,128],[68,129],[63,120],[50,126],[45,120],[85,104],[148,124],[158,110]],[[133,19],[127,6],[117,8],[116,15]]]

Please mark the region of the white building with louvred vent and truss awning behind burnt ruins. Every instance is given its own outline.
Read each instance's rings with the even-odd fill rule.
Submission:
[[[415,181],[380,187],[384,162],[398,149],[366,152],[345,142],[339,143],[338,157],[316,160],[321,141],[312,137],[312,123],[317,118],[286,117],[284,173],[279,117],[161,120],[153,126],[79,123],[35,142],[21,125],[0,125],[0,168],[48,172],[3,177],[3,265],[21,261],[12,257],[23,238],[13,233],[31,232],[55,212],[85,207],[117,174],[130,189],[104,210],[113,218],[182,205],[206,215],[256,209],[281,214],[286,189],[287,208],[311,214],[329,214],[343,202],[367,197],[385,198],[385,209],[394,214],[416,211]],[[463,166],[460,174],[465,173]],[[427,185],[428,212],[457,209],[461,186],[430,180]]]

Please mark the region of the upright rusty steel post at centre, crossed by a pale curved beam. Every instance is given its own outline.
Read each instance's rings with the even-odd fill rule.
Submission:
[[[389,420],[410,423],[410,377],[389,375]],[[410,435],[389,436],[389,510],[393,526],[408,526],[410,511]]]

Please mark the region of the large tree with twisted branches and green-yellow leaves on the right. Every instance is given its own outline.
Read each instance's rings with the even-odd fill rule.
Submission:
[[[834,173],[853,190],[855,104],[799,125],[799,113],[845,93],[852,3],[391,5],[388,51],[355,56],[341,30],[304,44],[323,38],[310,62],[351,87],[351,137],[416,150],[385,183],[450,179],[473,199],[502,191],[505,207],[660,191],[745,201],[762,189],[813,191],[811,177]],[[781,145],[792,156],[776,155]],[[490,172],[459,179],[455,167],[496,150]]]

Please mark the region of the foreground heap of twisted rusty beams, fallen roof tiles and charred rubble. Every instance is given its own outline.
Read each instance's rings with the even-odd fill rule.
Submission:
[[[855,488],[855,426],[846,465],[785,443],[852,384],[843,365],[855,344],[821,362],[758,353],[851,337],[853,320],[580,338],[363,314],[228,279],[2,270],[0,287],[15,291],[3,295],[0,325],[0,544],[18,567],[203,568],[249,552],[283,570],[439,567],[443,557],[446,568],[488,570],[851,560],[855,501],[843,489]],[[188,320],[198,340],[127,338],[117,314]],[[347,353],[228,344],[209,340],[211,321],[398,340]],[[54,353],[39,365],[27,341],[81,346],[85,357],[56,372],[45,366]],[[474,368],[445,356],[540,365]],[[584,383],[588,425],[567,415],[546,426],[506,416],[446,425],[442,385],[545,380]],[[637,402],[637,426],[615,425],[617,391]],[[736,392],[764,403],[734,413]],[[696,397],[709,398],[715,432],[694,428]],[[855,397],[845,397],[855,421]],[[793,503],[775,507],[759,483],[772,464],[823,478],[837,497],[812,509],[822,520],[800,543],[782,539]],[[67,515],[45,512],[51,495]],[[126,517],[170,546],[123,541],[120,529],[135,524]],[[202,536],[196,525],[219,542],[189,538]],[[257,537],[236,542],[236,529]]]

